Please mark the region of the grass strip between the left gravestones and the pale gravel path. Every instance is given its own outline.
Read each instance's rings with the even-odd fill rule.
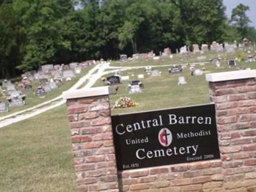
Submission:
[[[34,92],[27,92],[26,93],[26,104],[24,106],[13,106],[9,108],[9,111],[6,113],[0,113],[1,115],[9,115],[12,113],[15,113],[17,111],[22,111],[24,109],[28,109],[31,108],[33,106],[36,106],[37,104],[40,104],[42,102],[45,102],[47,100],[51,100],[54,99],[55,97],[58,97],[59,95],[61,95],[62,92],[64,92],[65,90],[68,90],[68,88],[70,88],[72,85],[74,85],[79,78],[83,77],[84,75],[86,75],[88,73],[89,70],[91,70],[94,66],[89,66],[87,68],[84,68],[83,72],[79,75],[77,75],[74,79],[72,79],[72,81],[67,81],[65,83],[63,83],[60,88],[57,88],[55,90],[52,90],[51,92],[48,92],[45,95],[45,98],[40,98],[37,95],[35,95]],[[35,89],[38,85],[38,82],[33,83],[33,89]],[[7,102],[4,98],[0,98],[0,100],[3,100],[4,102]]]

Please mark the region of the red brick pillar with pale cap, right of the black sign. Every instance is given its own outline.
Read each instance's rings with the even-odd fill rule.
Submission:
[[[256,70],[207,74],[225,189],[256,184]]]

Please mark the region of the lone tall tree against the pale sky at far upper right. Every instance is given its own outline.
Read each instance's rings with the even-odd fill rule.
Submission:
[[[236,8],[232,10],[231,24],[237,28],[241,37],[246,37],[248,32],[248,25],[251,20],[246,16],[246,11],[250,10],[249,6],[244,4],[238,4]]]

